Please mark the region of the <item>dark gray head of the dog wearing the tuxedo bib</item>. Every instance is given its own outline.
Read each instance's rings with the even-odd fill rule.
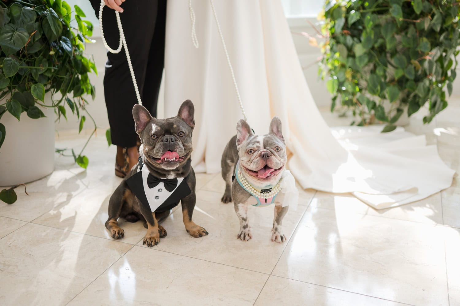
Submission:
[[[173,170],[190,158],[194,113],[190,100],[182,103],[176,117],[167,119],[153,118],[139,104],[133,107],[132,116],[142,142],[141,150],[152,166]]]

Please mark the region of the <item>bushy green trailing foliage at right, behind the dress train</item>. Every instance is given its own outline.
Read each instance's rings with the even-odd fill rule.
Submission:
[[[386,122],[428,102],[431,122],[447,107],[460,44],[457,0],[327,0],[320,73],[336,105],[359,126]],[[385,102],[386,101],[386,102]],[[389,107],[384,107],[385,103]]]

